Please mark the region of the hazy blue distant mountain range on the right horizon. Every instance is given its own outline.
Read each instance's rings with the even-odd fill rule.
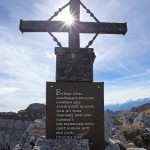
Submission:
[[[105,105],[105,110],[109,109],[112,111],[119,111],[119,110],[130,110],[132,107],[137,107],[146,103],[150,103],[149,98],[137,99],[135,101],[127,101],[125,103],[117,103],[117,104],[108,104]]]

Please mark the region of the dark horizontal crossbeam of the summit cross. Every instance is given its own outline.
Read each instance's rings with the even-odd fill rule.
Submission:
[[[72,25],[78,33],[126,34],[126,23],[80,22]],[[21,32],[69,32],[69,26],[63,21],[23,21],[20,20]]]

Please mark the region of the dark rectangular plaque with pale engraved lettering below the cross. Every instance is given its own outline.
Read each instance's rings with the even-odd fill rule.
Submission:
[[[89,139],[104,149],[103,82],[47,82],[46,138]]]

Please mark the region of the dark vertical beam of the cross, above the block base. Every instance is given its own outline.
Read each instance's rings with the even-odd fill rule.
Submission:
[[[70,0],[70,14],[74,23],[69,26],[69,48],[74,51],[80,49],[80,34],[76,27],[80,20],[80,0]]]

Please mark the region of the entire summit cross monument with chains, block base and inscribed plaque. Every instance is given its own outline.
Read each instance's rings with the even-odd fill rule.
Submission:
[[[80,21],[80,5],[95,22]],[[67,6],[73,23],[53,21]],[[89,150],[90,145],[91,150],[104,150],[104,82],[93,83],[96,56],[89,46],[99,34],[125,35],[127,23],[100,22],[80,0],[69,0],[48,20],[20,20],[20,31],[48,32],[59,46],[55,47],[56,82],[46,83],[46,139],[49,143],[46,140],[45,145],[85,150]],[[62,47],[52,32],[68,32],[69,46]],[[95,34],[85,48],[80,48],[80,33]]]

